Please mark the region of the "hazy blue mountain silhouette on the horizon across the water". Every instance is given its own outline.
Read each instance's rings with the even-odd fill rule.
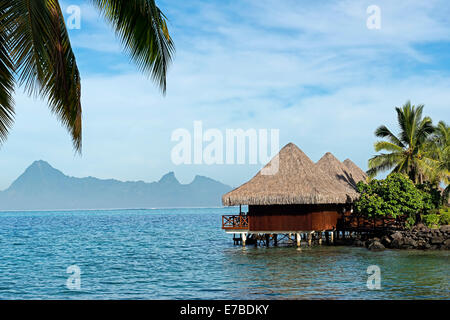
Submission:
[[[0,210],[220,206],[222,195],[231,189],[202,176],[181,184],[173,172],[151,183],[74,178],[41,160],[0,192]]]

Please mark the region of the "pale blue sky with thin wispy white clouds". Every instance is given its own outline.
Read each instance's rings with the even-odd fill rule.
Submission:
[[[313,161],[330,151],[363,169],[380,124],[396,131],[394,107],[425,104],[450,122],[448,1],[157,1],[177,52],[163,97],[141,75],[89,1],[71,30],[82,74],[83,155],[45,102],[19,88],[16,123],[0,148],[0,189],[34,160],[72,176],[158,180],[174,171],[232,186],[259,165],[172,164],[171,133],[205,129],[280,129]],[[366,27],[369,5],[381,29]]]

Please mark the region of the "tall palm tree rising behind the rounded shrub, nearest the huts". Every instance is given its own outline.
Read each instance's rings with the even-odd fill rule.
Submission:
[[[375,131],[377,137],[387,140],[376,142],[375,151],[388,153],[380,153],[369,160],[367,174],[370,177],[392,169],[393,172],[407,174],[416,183],[423,182],[427,167],[425,145],[434,132],[431,119],[422,118],[423,108],[423,105],[411,106],[409,101],[402,108],[395,108],[400,127],[398,136],[384,125]]]

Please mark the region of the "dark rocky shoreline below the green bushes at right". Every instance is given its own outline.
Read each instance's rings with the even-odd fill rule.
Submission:
[[[354,239],[345,239],[343,245],[366,247],[371,251],[385,249],[419,249],[419,250],[449,250],[450,225],[439,229],[430,229],[418,224],[409,230],[386,231],[377,236],[357,236]]]

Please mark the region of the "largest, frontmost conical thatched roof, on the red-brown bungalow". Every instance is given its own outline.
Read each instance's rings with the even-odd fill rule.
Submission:
[[[263,170],[276,167],[274,174]],[[356,199],[322,171],[320,171],[296,145],[287,144],[250,181],[225,194],[222,203],[226,206],[239,204],[340,204]]]

